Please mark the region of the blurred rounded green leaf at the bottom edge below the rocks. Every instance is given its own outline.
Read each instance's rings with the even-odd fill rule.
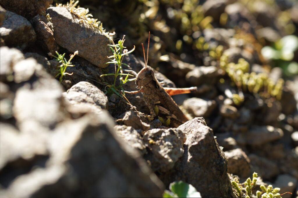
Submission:
[[[191,184],[183,181],[170,183],[170,191],[165,190],[162,197],[201,197]]]

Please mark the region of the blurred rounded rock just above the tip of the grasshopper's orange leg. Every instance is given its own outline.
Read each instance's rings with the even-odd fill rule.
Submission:
[[[200,66],[195,67],[192,71],[186,75],[186,81],[192,86],[199,86],[203,83],[214,84],[217,81],[217,68],[215,66]]]

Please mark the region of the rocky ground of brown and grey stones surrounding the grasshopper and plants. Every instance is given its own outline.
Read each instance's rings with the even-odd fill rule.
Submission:
[[[298,196],[298,47],[277,46],[297,35],[297,1],[81,0],[99,27],[73,3],[0,2],[1,197],[162,197],[180,180],[237,197],[231,180],[253,172],[254,190]],[[114,73],[108,44],[123,35],[138,73],[149,31],[157,80],[198,87],[173,96],[190,118],[177,128],[149,120],[140,93],[105,94],[114,78],[100,77]],[[55,51],[79,52],[61,83]]]

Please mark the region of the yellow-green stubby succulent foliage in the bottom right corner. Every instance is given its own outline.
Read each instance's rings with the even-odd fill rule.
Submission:
[[[260,185],[260,188],[262,190],[261,191],[257,191],[256,195],[252,194],[252,189],[256,186],[257,183],[257,177],[258,174],[256,172],[254,172],[254,174],[252,175],[252,180],[249,178],[247,178],[247,180],[244,182],[245,186],[242,186],[241,184],[239,184],[239,181],[237,179],[235,179],[234,181],[231,181],[232,186],[236,189],[237,191],[237,196],[238,197],[258,197],[258,198],[281,198],[279,191],[280,188],[274,188],[272,187],[272,185],[269,185],[267,188],[264,185]],[[245,193],[242,191],[245,190]],[[262,194],[263,193],[263,194]],[[262,196],[261,196],[262,195]]]

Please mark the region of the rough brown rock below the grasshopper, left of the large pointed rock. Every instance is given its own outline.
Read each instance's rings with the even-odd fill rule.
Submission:
[[[185,135],[179,129],[151,129],[143,138],[150,149],[145,159],[150,161],[153,171],[170,171],[184,153]]]

